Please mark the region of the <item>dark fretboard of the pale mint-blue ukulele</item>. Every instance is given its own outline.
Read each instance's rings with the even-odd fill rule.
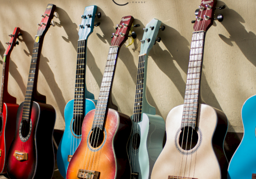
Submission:
[[[139,56],[139,65],[136,82],[136,94],[133,111],[133,121],[141,121],[142,113],[142,99],[143,99],[143,84],[144,84],[144,67],[145,67],[145,55]]]

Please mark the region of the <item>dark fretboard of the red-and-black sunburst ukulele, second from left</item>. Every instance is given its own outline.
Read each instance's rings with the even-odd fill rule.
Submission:
[[[30,119],[30,107],[34,94],[34,89],[36,88],[35,82],[37,82],[38,77],[38,66],[39,66],[39,58],[40,58],[41,46],[39,43],[34,42],[34,47],[32,51],[32,59],[29,70],[29,79],[27,90],[25,94],[24,108],[22,118],[23,120],[29,121]]]

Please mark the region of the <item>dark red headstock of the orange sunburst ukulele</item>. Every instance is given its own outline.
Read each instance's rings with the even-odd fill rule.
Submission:
[[[122,46],[129,37],[130,30],[132,30],[133,20],[131,15],[122,17],[120,23],[116,25],[116,32],[112,34],[111,46]],[[139,26],[136,25],[135,27]],[[136,34],[133,37],[136,38]]]

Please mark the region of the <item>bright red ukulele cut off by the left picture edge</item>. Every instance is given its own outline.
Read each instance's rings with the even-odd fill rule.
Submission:
[[[15,120],[18,109],[16,98],[8,93],[8,76],[9,76],[9,62],[11,52],[14,46],[18,44],[16,39],[22,35],[19,33],[19,28],[16,27],[12,34],[10,41],[7,42],[3,60],[3,74],[2,87],[0,96],[0,170],[1,173],[6,173],[6,153],[8,152],[15,133]]]

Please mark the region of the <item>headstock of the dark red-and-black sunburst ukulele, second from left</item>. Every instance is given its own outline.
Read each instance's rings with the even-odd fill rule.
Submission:
[[[36,36],[37,36],[36,37],[36,42],[39,42],[39,36],[40,37],[45,36],[45,34],[48,31],[50,25],[55,26],[55,23],[54,23],[54,21],[52,21],[52,18],[53,17],[56,17],[56,18],[59,17],[58,14],[56,12],[54,12],[55,9],[56,9],[55,5],[48,4],[45,13],[41,15],[42,16],[41,23],[37,24],[39,27],[38,27],[37,34],[36,34]]]

